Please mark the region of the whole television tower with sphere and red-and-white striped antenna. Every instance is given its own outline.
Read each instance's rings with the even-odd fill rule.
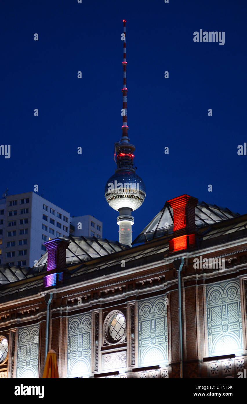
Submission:
[[[142,179],[135,173],[135,146],[129,143],[127,125],[127,84],[126,84],[126,20],[122,20],[124,32],[123,40],[123,88],[122,88],[122,138],[115,143],[114,161],[117,168],[115,174],[108,179],[105,187],[105,198],[111,208],[119,212],[119,242],[131,246],[134,224],[133,210],[139,208],[145,199],[146,189]]]

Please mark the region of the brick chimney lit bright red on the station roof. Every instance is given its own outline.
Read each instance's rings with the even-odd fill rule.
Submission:
[[[181,195],[167,201],[173,209],[173,236],[170,252],[195,246],[195,206],[198,199]]]

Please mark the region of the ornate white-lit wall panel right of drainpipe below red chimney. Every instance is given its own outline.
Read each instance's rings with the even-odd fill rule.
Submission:
[[[209,356],[243,352],[239,280],[207,286]]]

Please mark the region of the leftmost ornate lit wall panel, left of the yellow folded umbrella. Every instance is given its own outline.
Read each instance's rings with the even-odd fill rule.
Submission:
[[[16,377],[38,377],[39,325],[19,328]]]

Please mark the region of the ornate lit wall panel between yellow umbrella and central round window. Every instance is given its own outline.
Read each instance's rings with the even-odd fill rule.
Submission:
[[[91,313],[68,320],[67,377],[87,375],[91,371]]]

